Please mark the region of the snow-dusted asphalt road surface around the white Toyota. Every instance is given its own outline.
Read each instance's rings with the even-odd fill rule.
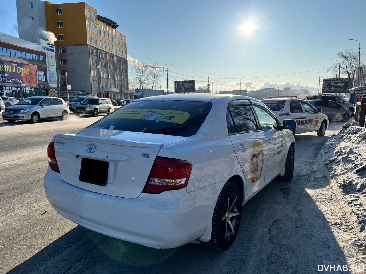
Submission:
[[[92,232],[53,210],[43,188],[47,145],[56,133],[103,116],[38,124],[0,118],[0,273],[295,274],[361,263],[357,234],[347,226],[354,220],[341,213],[341,198],[317,157],[341,123],[332,123],[324,137],[296,135],[294,179],[275,180],[247,202],[235,243],[218,252],[199,244],[143,247]]]

